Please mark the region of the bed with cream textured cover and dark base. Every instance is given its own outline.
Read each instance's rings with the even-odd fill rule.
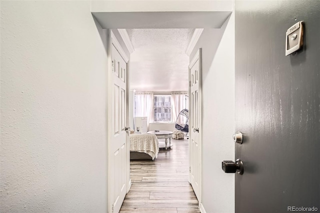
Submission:
[[[155,134],[130,134],[130,159],[157,158],[159,142]]]

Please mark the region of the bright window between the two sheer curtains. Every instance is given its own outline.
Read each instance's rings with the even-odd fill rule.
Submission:
[[[153,110],[154,122],[171,122],[171,95],[154,94]]]

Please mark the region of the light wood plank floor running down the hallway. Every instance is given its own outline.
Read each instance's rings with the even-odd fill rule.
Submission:
[[[164,139],[159,139],[159,141]],[[131,160],[132,185],[120,212],[196,213],[198,201],[188,182],[188,140],[171,139],[152,160]]]

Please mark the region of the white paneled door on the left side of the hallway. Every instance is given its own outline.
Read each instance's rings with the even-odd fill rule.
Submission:
[[[112,38],[111,38],[112,39]],[[118,212],[126,194],[126,62],[111,44],[111,132],[109,135],[109,212]]]

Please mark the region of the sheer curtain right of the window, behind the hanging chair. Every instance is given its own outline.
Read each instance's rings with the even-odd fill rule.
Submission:
[[[172,122],[175,122],[179,112],[188,108],[187,92],[172,92]]]

